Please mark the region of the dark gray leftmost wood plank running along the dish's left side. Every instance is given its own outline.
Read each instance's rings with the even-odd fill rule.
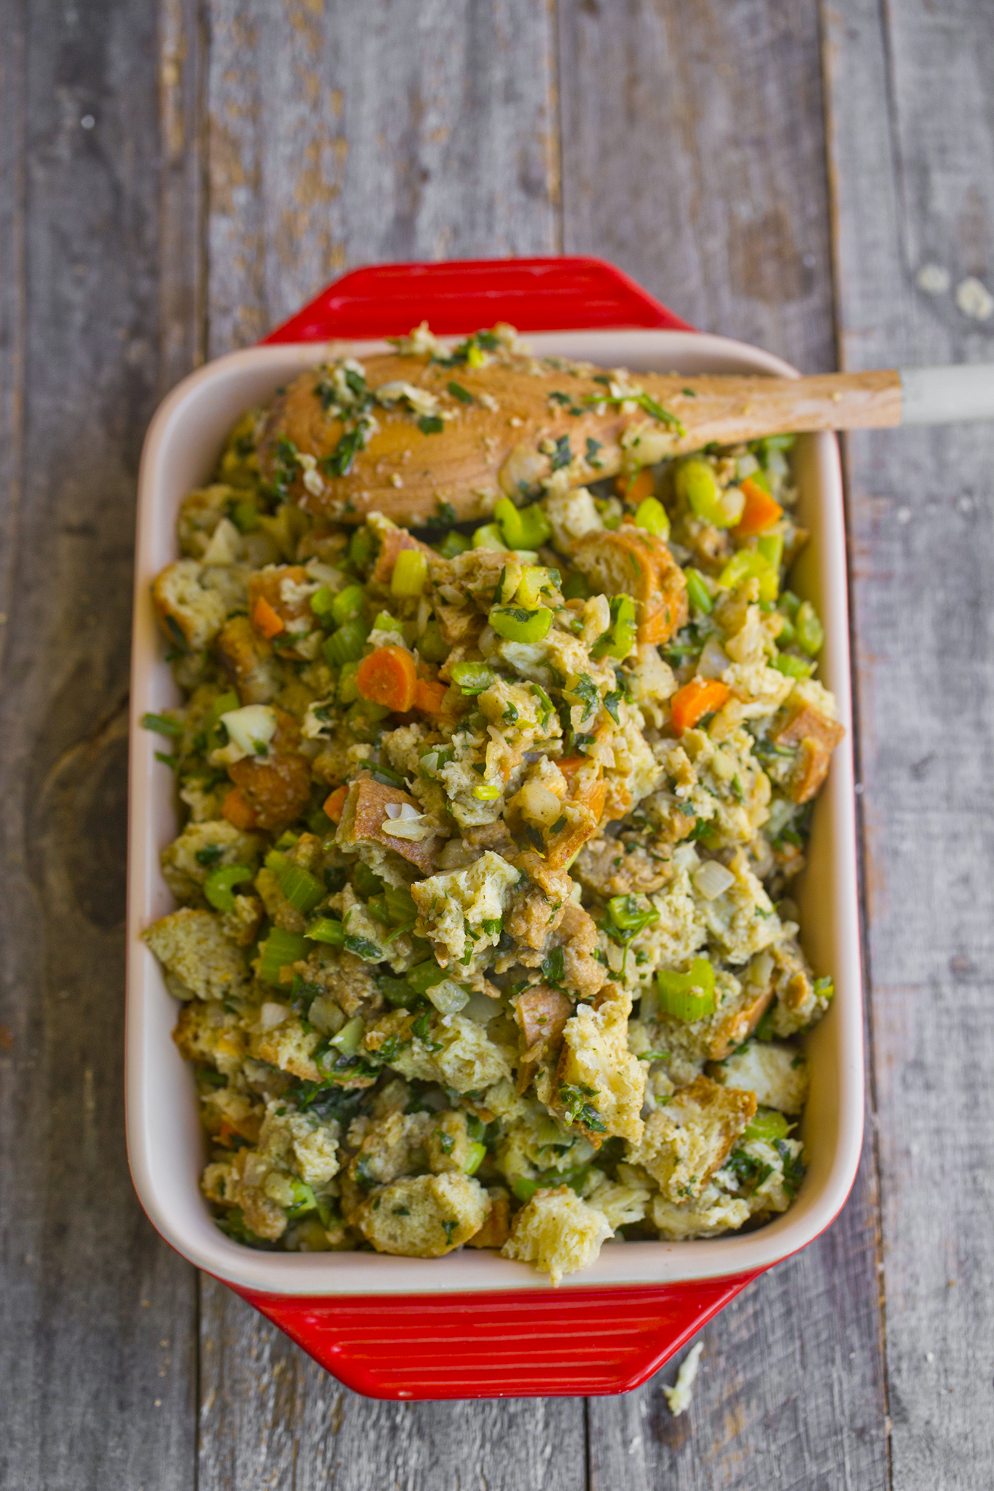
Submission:
[[[180,1491],[195,1281],[137,1205],[122,1124],[134,473],[159,382],[155,13],[6,4],[0,34],[0,1485]]]

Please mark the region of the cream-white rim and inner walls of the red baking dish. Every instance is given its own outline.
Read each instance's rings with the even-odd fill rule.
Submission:
[[[680,331],[577,331],[529,337],[536,352],[586,358],[605,367],[681,373],[793,370],[756,347]],[[359,355],[383,343],[353,344]],[[252,347],[209,364],[170,394],[149,429],[139,482],[131,768],[128,828],[127,1130],[131,1173],[155,1227],[191,1263],[244,1288],[285,1294],[396,1294],[455,1290],[548,1288],[545,1275],[495,1252],[463,1249],[446,1258],[393,1258],[371,1252],[256,1252],[215,1226],[198,1188],[204,1136],[194,1078],[171,1041],[176,1002],[159,966],[139,939],[173,910],[159,851],[176,833],[173,780],[156,762],[158,738],[139,720],[179,702],[149,602],[155,574],[177,556],[176,511],[210,474],[225,435],[277,385],[328,356],[328,346]],[[803,1121],[809,1169],[794,1205],[745,1236],[699,1242],[611,1242],[598,1263],[563,1288],[663,1284],[763,1269],[811,1242],[841,1209],[863,1133],[863,1015],[857,911],[851,751],[851,686],[842,477],[833,435],[797,443],[800,520],[812,543],[796,571],[826,626],[821,677],[835,690],[846,738],[836,750],[815,807],[809,865],[797,892],[803,942],[815,971],[832,974],[836,997],[808,1038],[811,1099]]]

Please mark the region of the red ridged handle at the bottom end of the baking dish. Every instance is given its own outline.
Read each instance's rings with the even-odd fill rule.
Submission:
[[[756,1276],[317,1299],[229,1287],[355,1393],[413,1402],[627,1393]]]

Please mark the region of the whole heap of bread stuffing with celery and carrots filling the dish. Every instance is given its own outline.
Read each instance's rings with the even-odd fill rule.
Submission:
[[[447,365],[440,347],[422,327],[364,361],[332,349],[182,501],[152,604],[185,702],[149,720],[171,737],[179,910],[145,939],[182,1000],[229,1238],[501,1248],[559,1281],[618,1229],[717,1236],[797,1193],[778,1114],[803,1109],[791,1038],[833,984],[787,896],[842,732],[791,677],[821,628],[791,587],[782,441],[653,468],[674,437],[623,371],[592,383],[507,327]],[[548,429],[511,437],[520,376],[548,379]],[[617,410],[586,455],[571,397]],[[361,519],[489,416],[517,449],[474,492],[483,529],[449,531],[446,483],[431,546]],[[615,495],[571,488],[618,462]],[[747,476],[782,507],[773,599],[723,583],[762,568]],[[732,526],[700,516],[714,501]],[[687,719],[693,680],[727,696]]]

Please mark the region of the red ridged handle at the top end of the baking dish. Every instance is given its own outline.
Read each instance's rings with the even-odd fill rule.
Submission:
[[[510,321],[519,331],[694,330],[614,264],[562,256],[373,264],[328,285],[264,341],[401,337],[422,321],[438,335],[496,321]]]

